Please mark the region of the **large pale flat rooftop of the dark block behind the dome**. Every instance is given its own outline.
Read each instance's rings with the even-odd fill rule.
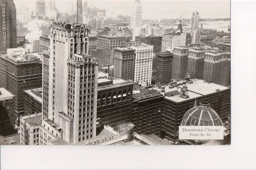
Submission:
[[[178,81],[177,84],[173,85],[174,87],[172,86],[173,88],[169,88],[171,85],[162,86],[162,87],[164,87],[164,90],[165,90],[164,92],[162,92],[162,89],[158,88],[158,87],[150,88],[150,90],[151,89],[157,90],[162,95],[164,95],[166,99],[169,99],[169,100],[179,103],[179,102],[182,102],[185,100],[194,99],[194,98],[201,97],[204,95],[213,94],[214,92],[217,92],[217,91],[230,89],[228,87],[221,86],[221,85],[215,84],[215,83],[209,83],[204,80],[192,79],[192,81],[193,81],[193,83],[191,83],[191,84],[186,83],[186,84],[182,84],[182,85],[179,85],[179,84],[181,84],[184,81]],[[179,97],[180,90],[182,89],[183,86],[187,86],[187,89],[188,89],[189,98],[187,98],[187,99]],[[173,95],[171,95],[171,94],[173,94]]]

